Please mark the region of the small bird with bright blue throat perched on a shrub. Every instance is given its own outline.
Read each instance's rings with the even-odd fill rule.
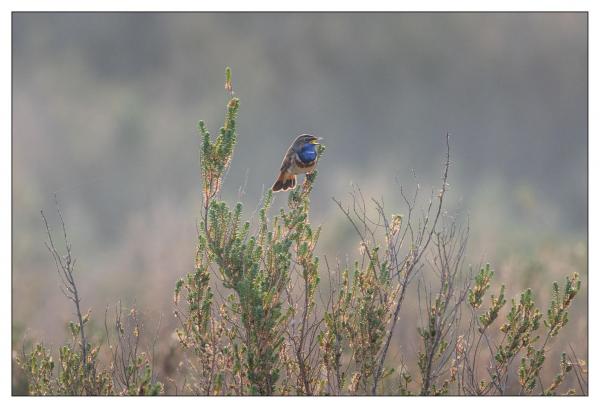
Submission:
[[[310,173],[317,166],[317,145],[320,137],[300,135],[294,140],[281,162],[279,177],[273,184],[273,191],[287,191],[296,187],[296,175]]]

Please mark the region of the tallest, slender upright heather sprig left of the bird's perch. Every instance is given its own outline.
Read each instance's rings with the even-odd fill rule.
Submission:
[[[214,292],[210,285],[213,264],[217,261],[215,253],[217,234],[220,224],[216,222],[218,213],[224,213],[225,203],[216,200],[221,191],[223,178],[229,168],[237,141],[236,117],[239,99],[233,96],[231,70],[226,69],[225,89],[229,98],[226,105],[225,121],[217,137],[213,140],[204,121],[198,122],[201,138],[200,171],[202,180],[202,209],[198,229],[195,270],[179,279],[175,285],[175,316],[181,327],[176,333],[181,345],[192,351],[197,361],[190,364],[195,370],[196,380],[189,386],[193,393],[212,395],[224,390],[226,376],[237,378],[237,393],[242,393],[243,379],[239,364],[239,350],[222,347],[222,338],[232,337],[228,327],[227,310],[220,308],[215,312]],[[236,207],[238,219],[241,204]],[[212,218],[210,218],[212,217]],[[212,221],[212,222],[211,222]],[[185,308],[180,307],[180,296],[186,293]],[[236,360],[237,357],[237,360]],[[217,368],[229,367],[229,370]]]

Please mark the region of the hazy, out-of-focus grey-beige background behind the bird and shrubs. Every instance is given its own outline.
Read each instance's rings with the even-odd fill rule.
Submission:
[[[545,302],[577,271],[567,342],[587,358],[587,15],[584,13],[14,13],[13,348],[58,346],[73,319],[40,210],[64,213],[84,308],[136,304],[167,350],[173,287],[191,271],[201,192],[196,124],[241,99],[224,197],[250,217],[300,133],[324,138],[318,252],[358,239],[331,197],[352,183],[402,212],[399,184],[438,188],[470,224],[467,261]],[[414,174],[417,179],[415,180]],[[274,208],[286,205],[277,195]],[[413,299],[414,301],[415,299]],[[543,303],[544,304],[544,303]],[[411,323],[411,317],[405,317]],[[418,347],[416,330],[407,348]],[[165,368],[166,370],[166,368]]]

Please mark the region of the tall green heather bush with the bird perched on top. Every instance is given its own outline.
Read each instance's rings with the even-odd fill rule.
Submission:
[[[259,210],[256,229],[249,221],[242,221],[242,204],[231,208],[220,199],[237,139],[239,100],[233,97],[229,69],[225,88],[230,99],[219,135],[212,140],[204,122],[198,126],[202,138],[202,217],[196,271],[179,280],[175,288],[176,302],[182,292],[187,294],[186,310],[177,311],[182,323],[178,336],[182,345],[199,358],[200,377],[204,380],[197,391],[274,394],[282,352],[289,349],[301,367],[298,382],[303,384],[304,393],[312,393],[314,375],[308,369],[311,351],[306,339],[310,330],[315,331],[314,326],[308,327],[308,318],[303,316],[300,335],[290,336],[290,317],[297,309],[285,307],[284,301],[290,274],[300,265],[306,283],[304,305],[308,306],[303,310],[309,312],[314,304],[318,260],[313,252],[318,229],[313,231],[309,225],[308,203],[316,173],[290,193],[287,211],[269,219],[273,199],[269,191]],[[217,278],[215,284],[229,292],[222,298],[219,316],[214,311],[213,276]],[[293,341],[294,345],[284,347],[285,341]],[[215,369],[218,361],[229,364],[220,374]]]

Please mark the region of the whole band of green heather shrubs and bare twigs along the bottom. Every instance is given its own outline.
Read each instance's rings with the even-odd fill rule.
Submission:
[[[553,282],[547,305],[531,289],[508,294],[493,283],[489,264],[470,267],[469,227],[447,216],[450,142],[441,185],[419,205],[420,187],[398,194],[404,212],[354,187],[349,202],[334,203],[353,229],[358,259],[320,257],[321,228],[310,222],[317,171],[293,189],[287,208],[271,208],[268,191],[256,219],[242,203],[221,198],[235,150],[236,116],[230,70],[225,121],[216,137],[204,122],[200,135],[202,206],[195,268],[175,283],[176,337],[183,356],[177,394],[194,395],[557,395],[587,394],[585,362],[575,350],[551,361],[553,339],[563,333],[581,279]],[[320,147],[324,158],[325,148]],[[58,206],[57,206],[58,208]],[[79,296],[75,259],[65,223],[57,249],[44,214],[47,246],[61,288],[73,304],[70,340],[58,356],[43,343],[16,359],[31,395],[159,395],[152,345],[135,308],[104,317],[105,335],[86,332],[91,312]],[[401,312],[416,296],[412,318]],[[390,355],[401,331],[415,331],[415,367]],[[107,353],[108,364],[99,360]],[[554,372],[543,383],[543,370]],[[564,386],[574,376],[577,388]]]

